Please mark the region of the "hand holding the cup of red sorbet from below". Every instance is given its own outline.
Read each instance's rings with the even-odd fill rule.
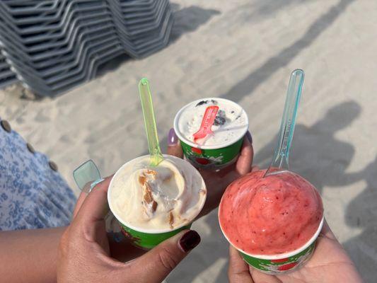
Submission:
[[[238,250],[232,246],[229,255],[228,277],[231,283],[362,282],[354,263],[337,241],[326,221],[318,236],[311,260],[300,269],[286,275],[272,276],[255,270],[243,261]]]

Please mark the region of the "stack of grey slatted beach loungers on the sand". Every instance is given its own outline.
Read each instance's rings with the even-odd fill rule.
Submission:
[[[168,0],[1,0],[0,86],[57,95],[122,53],[165,47],[172,25]]]

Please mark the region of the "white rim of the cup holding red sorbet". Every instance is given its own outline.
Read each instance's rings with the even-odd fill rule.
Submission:
[[[246,253],[244,250],[241,250],[240,248],[237,248],[236,245],[234,245],[229,240],[229,238],[226,236],[226,233],[224,233],[223,227],[221,226],[221,221],[220,221],[220,217],[219,217],[220,216],[220,208],[219,208],[219,212],[218,212],[217,215],[218,215],[218,219],[219,219],[219,226],[220,226],[221,232],[223,233],[223,235],[226,238],[226,240],[234,248],[236,248],[238,251],[240,251],[240,253],[248,255],[248,256],[250,256],[252,258],[259,258],[261,260],[279,260],[279,259],[282,259],[282,258],[291,258],[292,256],[297,255],[298,253],[301,253],[303,250],[306,250],[306,248],[308,248],[309,246],[311,246],[311,244],[318,238],[318,235],[320,234],[320,231],[322,230],[323,222],[324,222],[324,219],[325,219],[325,214],[323,214],[322,219],[320,221],[320,224],[318,225],[317,231],[315,231],[315,233],[313,234],[313,236],[305,243],[305,245],[301,246],[300,248],[296,248],[296,250],[292,250],[292,251],[287,252],[287,253],[279,253],[277,255],[257,255],[257,254],[253,254],[253,253]]]

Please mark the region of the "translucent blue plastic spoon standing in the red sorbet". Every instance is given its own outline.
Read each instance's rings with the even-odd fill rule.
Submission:
[[[298,104],[300,103],[303,87],[303,77],[303,70],[300,69],[294,70],[291,74],[288,91],[286,93],[282,124],[280,125],[279,139],[271,165],[267,169],[264,177],[289,170],[289,149],[291,148],[292,139],[294,137]],[[276,168],[278,168],[277,171]]]

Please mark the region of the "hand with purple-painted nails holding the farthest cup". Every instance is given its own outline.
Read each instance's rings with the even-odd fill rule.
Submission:
[[[168,135],[168,154],[183,158],[182,147],[180,146],[180,141],[174,132],[174,129],[170,129]],[[253,144],[250,132],[248,132],[244,139],[243,145],[240,151],[240,156],[236,163],[221,169],[218,172],[209,171],[206,169],[199,169],[199,173],[202,175],[204,182],[207,186],[207,200],[204,204],[200,216],[204,216],[211,212],[213,209],[219,206],[221,197],[224,194],[226,187],[233,180],[236,180],[242,175],[245,175],[251,171],[251,166],[253,164]]]

